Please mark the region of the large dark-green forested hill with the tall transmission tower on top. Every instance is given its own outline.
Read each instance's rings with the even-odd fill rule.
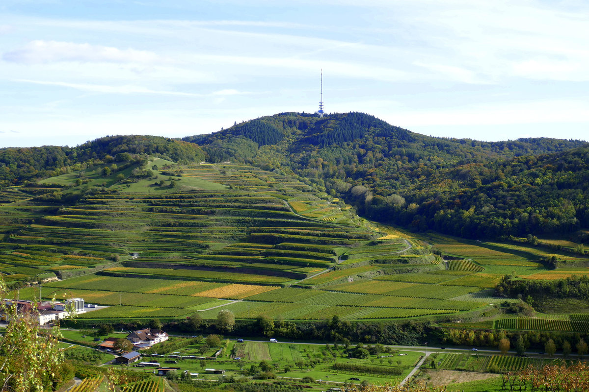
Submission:
[[[432,138],[363,113],[281,113],[198,143],[213,161],[287,168],[365,216],[464,237],[589,227],[587,143]]]

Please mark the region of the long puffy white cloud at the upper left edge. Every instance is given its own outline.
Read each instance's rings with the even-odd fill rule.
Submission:
[[[35,40],[2,56],[5,61],[16,63],[49,63],[62,61],[153,63],[159,58],[155,53],[135,49],[118,49],[89,43]]]

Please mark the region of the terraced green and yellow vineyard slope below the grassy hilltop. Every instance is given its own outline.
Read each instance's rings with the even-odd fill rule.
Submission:
[[[170,185],[114,183],[66,207],[5,192],[12,202],[0,213],[13,220],[4,226],[0,267],[15,280],[82,274],[45,282],[41,293],[109,306],[80,317],[92,320],[195,312],[214,319],[220,309],[242,319],[394,319],[484,306],[451,300],[481,285],[441,285],[456,276],[432,274],[444,264],[425,242],[371,226],[297,180],[229,163],[166,165],[158,169]],[[67,192],[75,179],[43,183],[47,192]],[[18,213],[21,205],[30,215]],[[38,292],[24,289],[21,297]]]

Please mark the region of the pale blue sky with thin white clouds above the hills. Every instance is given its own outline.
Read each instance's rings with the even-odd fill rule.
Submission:
[[[0,148],[365,112],[589,140],[585,0],[1,0]]]

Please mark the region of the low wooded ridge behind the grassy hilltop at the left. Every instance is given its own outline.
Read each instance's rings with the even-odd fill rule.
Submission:
[[[0,189],[114,160],[144,159],[148,155],[175,162],[194,162],[203,160],[205,156],[203,150],[193,143],[136,135],[107,136],[71,148],[3,148],[0,149]]]

